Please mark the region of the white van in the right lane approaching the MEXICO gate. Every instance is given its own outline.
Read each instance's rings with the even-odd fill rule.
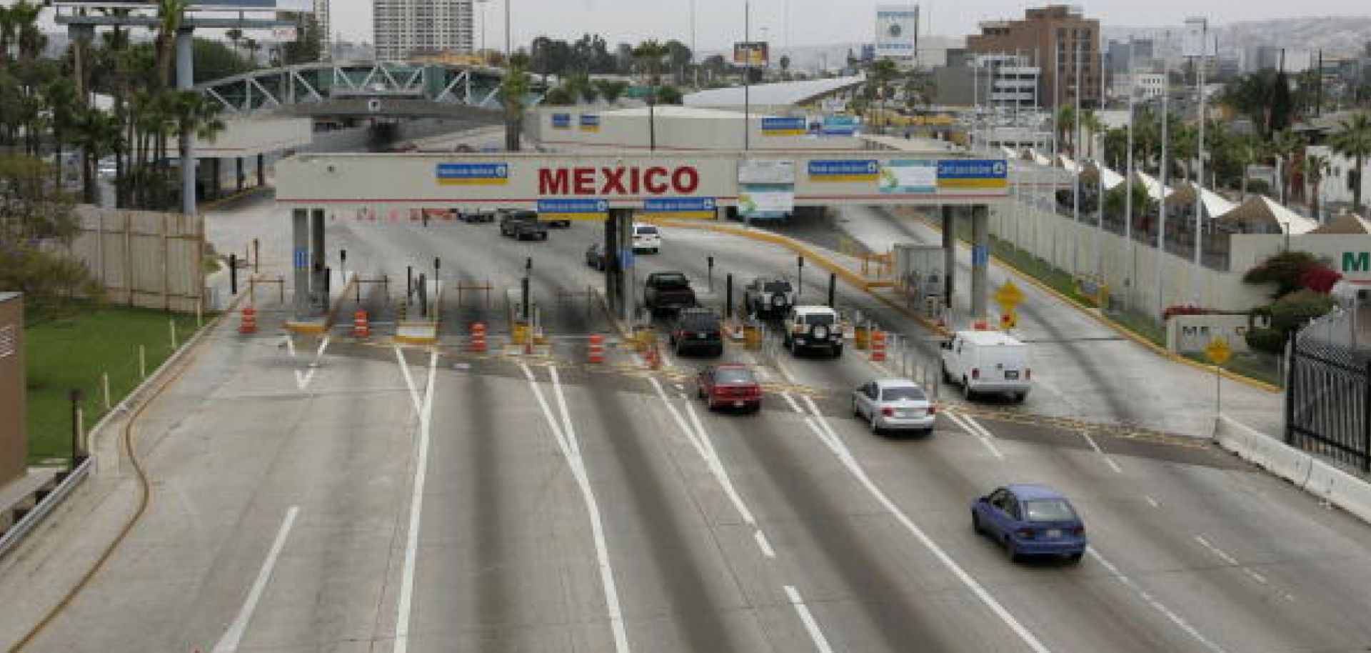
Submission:
[[[967,401],[1004,392],[1016,402],[1028,396],[1032,369],[1028,346],[1002,331],[958,331],[942,344],[943,381],[961,385]]]

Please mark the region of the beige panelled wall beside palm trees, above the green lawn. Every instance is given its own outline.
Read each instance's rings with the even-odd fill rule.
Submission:
[[[77,207],[71,257],[125,306],[191,313],[204,295],[204,218],[177,213]]]

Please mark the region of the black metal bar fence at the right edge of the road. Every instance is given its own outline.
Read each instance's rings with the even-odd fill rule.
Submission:
[[[1334,310],[1293,339],[1286,443],[1371,472],[1371,351],[1355,346],[1350,324]]]

